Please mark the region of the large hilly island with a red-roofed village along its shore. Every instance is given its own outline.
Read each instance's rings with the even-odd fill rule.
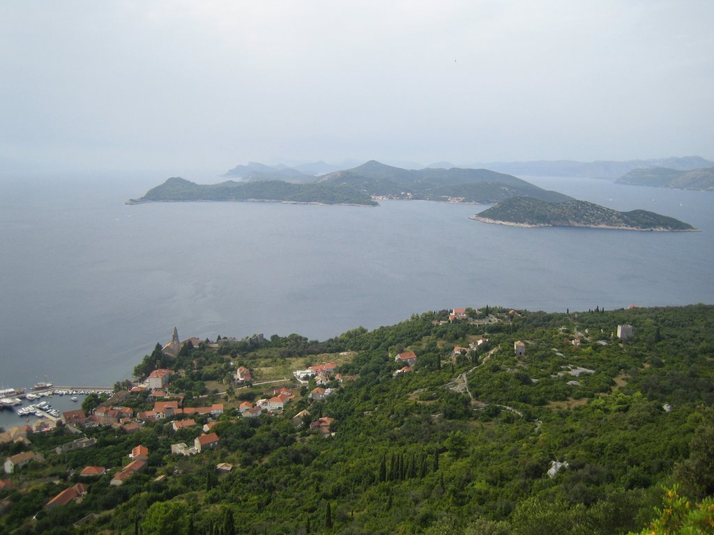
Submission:
[[[512,175],[487,169],[408,170],[377,161],[321,176],[307,177],[290,168],[273,169],[252,163],[231,170],[240,181],[199,185],[169,178],[141,198],[127,204],[196,200],[263,200],[289,203],[376,205],[381,199],[436,200],[493,204],[528,196],[548,202],[570,200],[568,195],[544,190]],[[307,178],[311,181],[306,181]]]

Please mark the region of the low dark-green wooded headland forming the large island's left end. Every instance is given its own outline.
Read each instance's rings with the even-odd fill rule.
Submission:
[[[183,178],[169,178],[144,197],[129,204],[190,200],[276,200],[293,203],[376,205],[369,195],[333,184],[293,184],[281,180],[199,185]]]

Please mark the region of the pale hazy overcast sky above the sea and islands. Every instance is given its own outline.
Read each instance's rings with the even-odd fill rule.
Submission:
[[[1,1],[3,170],[714,158],[714,1]]]

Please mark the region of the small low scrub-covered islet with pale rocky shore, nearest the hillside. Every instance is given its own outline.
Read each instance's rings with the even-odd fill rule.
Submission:
[[[632,210],[618,212],[584,200],[547,203],[542,200],[518,197],[504,200],[471,217],[484,223],[498,223],[522,227],[585,227],[622,230],[687,231],[692,225],[675,218]]]

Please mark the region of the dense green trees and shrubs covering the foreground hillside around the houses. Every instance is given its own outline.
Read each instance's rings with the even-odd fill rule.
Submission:
[[[356,379],[333,380],[337,392],[318,402],[305,395],[311,382],[284,414],[257,419],[229,409],[263,389],[231,387],[213,427],[221,447],[196,457],[169,453],[197,432],[174,432],[164,420],[131,435],[87,429],[98,444],[61,455],[51,449],[75,437],[34,435],[47,461],[24,469],[24,483],[15,475],[19,488],[0,491],[9,504],[0,531],[604,535],[654,521],[658,533],[678,532],[667,527],[677,522],[708,532],[700,526],[713,518],[714,307],[467,313],[450,322],[448,311],[426,312],[323,342],[290,335],[186,345],[176,360],[158,347],[136,372],[174,367],[171,389],[188,392],[189,405],[219,401],[211,382],[236,365],[333,361]],[[633,325],[633,337],[618,340],[619,324]],[[478,349],[454,351],[484,337]],[[525,355],[514,353],[516,340]],[[404,350],[418,361],[394,377]],[[126,403],[150,406],[141,394]],[[291,417],[306,407],[310,416],[296,426]],[[318,417],[334,418],[333,436],[309,431]],[[114,471],[137,444],[149,447],[146,474],[119,487],[101,477],[81,503],[42,509],[77,480],[72,471]],[[236,468],[216,475],[217,462]],[[553,462],[566,464],[550,477]],[[88,514],[97,516],[73,526]]]

